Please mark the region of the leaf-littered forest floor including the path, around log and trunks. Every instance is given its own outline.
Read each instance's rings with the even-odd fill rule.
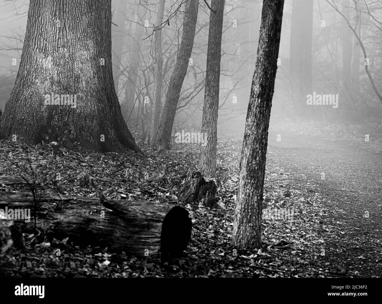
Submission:
[[[193,231],[185,257],[175,264],[160,267],[157,255],[141,261],[107,248],[79,248],[66,239],[49,243],[24,235],[27,252],[4,256],[3,275],[382,277],[382,129],[377,124],[366,129],[332,124],[324,129],[288,121],[270,128],[263,209],[293,211],[293,220],[263,217],[263,246],[254,250],[236,250],[230,244],[243,138],[232,134],[218,136],[218,207],[184,206],[192,211]],[[365,134],[371,134],[369,142]],[[18,148],[2,141],[0,175],[32,177],[41,167],[47,175],[61,169],[62,179],[72,177],[59,188],[46,183],[39,191],[97,196],[100,190],[108,198],[126,195],[176,204],[179,189],[173,181],[197,171],[198,150],[197,144],[175,144],[159,156],[144,149],[146,158],[105,153],[101,160],[103,154],[63,149],[63,156],[53,159],[48,145]],[[168,168],[166,177],[157,180],[163,178],[162,164]],[[109,182],[89,189],[81,184],[81,174]],[[1,190],[28,188],[0,183]],[[66,250],[56,256],[55,248],[62,243]]]

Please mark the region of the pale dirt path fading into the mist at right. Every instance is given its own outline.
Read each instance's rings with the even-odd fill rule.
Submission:
[[[344,276],[382,276],[382,150],[372,143],[330,141],[270,131],[267,162],[293,173],[293,187],[324,196],[325,255]],[[325,174],[325,179],[321,179]],[[343,269],[343,270],[341,270]]]

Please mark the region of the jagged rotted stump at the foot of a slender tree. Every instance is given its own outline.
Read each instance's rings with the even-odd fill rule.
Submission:
[[[189,172],[178,195],[179,201],[183,203],[202,203],[203,206],[210,207],[216,204],[216,185],[213,180],[208,182],[202,177],[200,172]]]

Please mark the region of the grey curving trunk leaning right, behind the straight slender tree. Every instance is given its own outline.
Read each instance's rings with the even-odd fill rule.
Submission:
[[[157,143],[153,143],[157,148],[160,147],[165,150],[170,150],[171,148],[171,133],[176,114],[176,106],[178,105],[180,90],[187,73],[188,62],[194,45],[198,5],[198,0],[191,0],[186,4],[182,42],[178,57],[176,58],[176,65],[170,78],[170,83],[168,84],[166,101],[163,106],[162,118],[160,119]]]

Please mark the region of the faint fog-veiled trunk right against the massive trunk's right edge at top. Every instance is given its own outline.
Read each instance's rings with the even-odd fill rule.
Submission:
[[[123,50],[123,42],[124,42],[124,27],[125,27],[125,10],[126,10],[127,2],[121,1],[118,5],[117,13],[114,13],[114,23],[117,26],[112,25],[113,27],[113,38],[112,38],[112,64],[113,64],[113,79],[115,92],[118,95],[118,80],[120,77],[120,65],[121,65],[121,55]]]

